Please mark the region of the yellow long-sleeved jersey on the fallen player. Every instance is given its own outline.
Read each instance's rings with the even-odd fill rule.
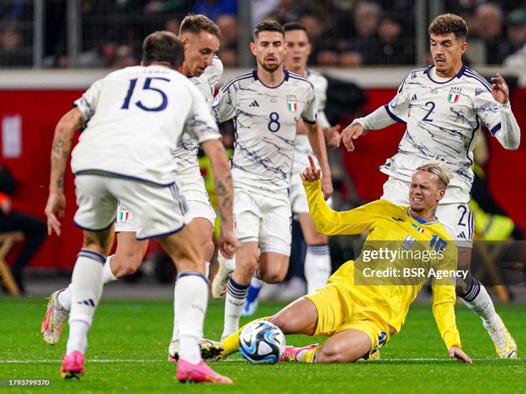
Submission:
[[[321,184],[304,181],[316,229],[321,234],[361,234],[369,231],[360,256],[348,261],[328,283],[348,288],[354,302],[377,310],[377,319],[389,327],[389,336],[404,324],[409,305],[431,280],[433,314],[449,348],[461,347],[454,305],[458,252],[437,219],[424,222],[409,207],[379,199],[347,212],[333,211],[321,193]]]

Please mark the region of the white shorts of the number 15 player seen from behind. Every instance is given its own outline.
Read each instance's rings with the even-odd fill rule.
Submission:
[[[81,229],[102,231],[112,226],[117,201],[136,218],[137,239],[172,234],[185,224],[186,202],[176,184],[159,186],[120,177],[77,175],[75,193],[78,209],[73,220]]]

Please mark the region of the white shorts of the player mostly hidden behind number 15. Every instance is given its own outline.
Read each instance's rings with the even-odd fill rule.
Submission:
[[[188,211],[185,215],[185,224],[190,223],[196,217],[208,219],[212,226],[215,223],[215,210],[210,203],[208,193],[205,190],[203,177],[178,177],[177,186],[181,195],[185,197]],[[127,206],[119,201],[117,205],[117,218],[115,219],[115,231],[137,231],[139,224],[129,214]]]

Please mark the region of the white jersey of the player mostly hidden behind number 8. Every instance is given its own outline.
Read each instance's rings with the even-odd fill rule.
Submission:
[[[311,82],[314,87],[314,95],[316,97],[316,109],[318,123],[321,128],[331,127],[325,115],[325,106],[327,102],[327,79],[323,77],[319,72],[307,69],[306,79]],[[294,160],[292,162],[292,177],[295,180],[300,173],[309,165],[307,155],[311,155],[314,159],[314,163],[319,168],[318,160],[311,147],[311,143],[308,142],[308,136],[306,134],[296,134],[296,142],[294,143]],[[303,188],[303,185],[301,185]]]

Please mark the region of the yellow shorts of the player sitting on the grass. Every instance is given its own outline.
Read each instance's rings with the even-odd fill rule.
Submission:
[[[377,312],[361,305],[340,283],[329,283],[305,297],[314,302],[318,310],[314,336],[333,336],[345,329],[357,329],[369,336],[370,354],[380,349],[390,337],[387,324]]]

